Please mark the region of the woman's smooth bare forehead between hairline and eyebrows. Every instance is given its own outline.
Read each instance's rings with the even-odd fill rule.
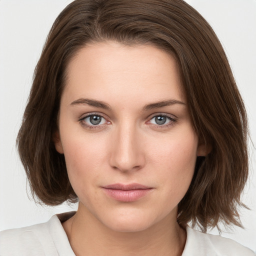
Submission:
[[[66,74],[64,92],[70,100],[125,96],[141,103],[173,97],[184,101],[174,57],[149,44],[88,44],[69,61]]]

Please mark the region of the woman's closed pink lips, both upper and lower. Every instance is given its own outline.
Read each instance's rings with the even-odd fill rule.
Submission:
[[[132,202],[147,195],[153,188],[138,183],[115,183],[102,187],[104,192],[117,201]]]

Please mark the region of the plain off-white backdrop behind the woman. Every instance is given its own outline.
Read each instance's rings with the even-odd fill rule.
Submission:
[[[51,24],[71,0],[0,0],[0,230],[44,222],[77,205],[40,206],[29,187],[15,148],[33,69]],[[230,61],[248,111],[256,145],[256,0],[187,0],[210,23]],[[220,116],[221,118],[221,116]],[[250,144],[250,177],[242,199],[244,229],[221,235],[256,250],[255,149]],[[211,231],[217,233],[215,229]]]

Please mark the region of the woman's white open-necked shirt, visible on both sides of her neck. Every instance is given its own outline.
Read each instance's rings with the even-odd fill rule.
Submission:
[[[73,212],[53,215],[47,222],[0,232],[0,256],[75,256],[61,221]],[[219,235],[186,227],[181,256],[255,256],[250,249]]]

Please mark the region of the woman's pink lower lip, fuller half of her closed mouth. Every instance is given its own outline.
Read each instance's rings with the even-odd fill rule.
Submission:
[[[139,198],[147,195],[152,188],[146,189],[131,189],[131,190],[120,190],[120,189],[111,189],[111,188],[103,188],[105,193],[110,197],[114,198],[117,201],[122,202],[132,202],[136,201]]]

